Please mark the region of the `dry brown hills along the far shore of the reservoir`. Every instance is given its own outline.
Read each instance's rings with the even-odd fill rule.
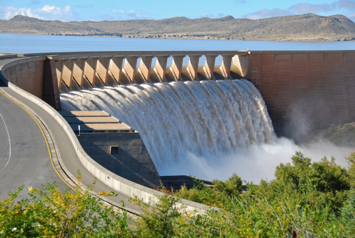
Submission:
[[[233,39],[267,41],[355,40],[355,23],[343,15],[315,14],[258,20],[174,17],[162,20],[45,21],[14,16],[0,20],[0,33],[139,38]]]

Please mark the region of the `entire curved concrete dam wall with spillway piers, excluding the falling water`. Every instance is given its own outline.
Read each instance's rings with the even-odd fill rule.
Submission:
[[[59,93],[92,87],[188,80],[250,80],[275,131],[355,121],[355,51],[119,51],[24,54],[5,65],[9,81],[60,110]],[[170,62],[170,63],[169,63]]]

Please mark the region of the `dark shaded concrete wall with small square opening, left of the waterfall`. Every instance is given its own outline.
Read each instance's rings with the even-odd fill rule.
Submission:
[[[137,184],[156,188],[160,177],[139,133],[81,133],[85,152],[111,172]],[[111,154],[117,146],[117,154]]]

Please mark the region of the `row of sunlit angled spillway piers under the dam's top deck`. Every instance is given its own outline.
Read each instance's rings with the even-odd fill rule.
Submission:
[[[49,58],[55,61],[60,92],[68,92],[119,84],[229,79],[231,74],[243,78],[247,56],[247,51],[121,51]]]

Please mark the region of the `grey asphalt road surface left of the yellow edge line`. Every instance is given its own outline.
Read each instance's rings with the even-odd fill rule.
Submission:
[[[0,85],[4,86],[3,82]],[[27,187],[42,188],[48,182],[56,181],[60,189],[68,188],[52,167],[45,138],[36,121],[1,93],[0,181],[1,199],[22,184],[25,188],[20,198],[26,196]]]

